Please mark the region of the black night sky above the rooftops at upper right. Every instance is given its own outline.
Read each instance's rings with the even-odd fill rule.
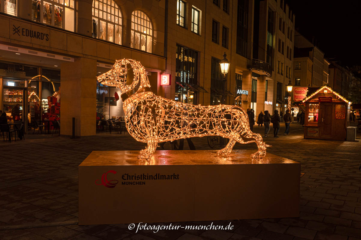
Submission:
[[[361,1],[288,1],[296,29],[344,66],[361,65]]]

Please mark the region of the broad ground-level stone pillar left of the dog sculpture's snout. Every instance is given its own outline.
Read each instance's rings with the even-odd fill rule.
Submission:
[[[75,58],[61,65],[60,134],[95,135],[96,132],[96,60]]]

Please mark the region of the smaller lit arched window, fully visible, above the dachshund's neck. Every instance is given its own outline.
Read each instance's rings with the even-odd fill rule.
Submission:
[[[140,10],[135,10],[132,13],[132,31],[130,47],[139,50],[152,52],[153,39],[152,22],[147,14]]]

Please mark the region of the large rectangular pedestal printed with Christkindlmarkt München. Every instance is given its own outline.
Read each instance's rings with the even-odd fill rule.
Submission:
[[[253,152],[93,151],[79,165],[79,225],[298,217],[300,163]]]

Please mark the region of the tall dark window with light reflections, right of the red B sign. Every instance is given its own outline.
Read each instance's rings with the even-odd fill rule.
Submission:
[[[175,101],[196,104],[198,52],[177,44],[175,57]]]

